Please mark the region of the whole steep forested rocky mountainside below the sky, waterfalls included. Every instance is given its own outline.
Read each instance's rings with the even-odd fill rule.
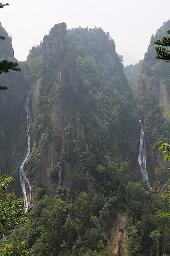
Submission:
[[[170,254],[170,222],[157,216],[168,211],[166,199],[149,191],[168,178],[156,152],[169,123],[162,89],[153,89],[166,79],[164,70],[153,82],[154,67],[165,67],[154,59],[154,38],[141,66],[126,67],[133,86],[109,33],[64,22],[32,47],[19,74],[0,76],[8,87],[0,93],[0,167],[32,211],[7,243],[24,239],[39,256],[151,256],[158,237],[160,255]]]

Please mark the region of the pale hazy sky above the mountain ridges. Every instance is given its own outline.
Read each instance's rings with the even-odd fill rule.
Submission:
[[[2,1],[3,4],[6,2]],[[142,59],[150,37],[170,18],[170,0],[7,0],[1,22],[11,35],[15,58],[26,60],[51,27],[101,27],[109,32],[118,52]]]

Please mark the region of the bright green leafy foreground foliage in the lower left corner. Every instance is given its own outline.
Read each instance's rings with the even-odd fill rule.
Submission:
[[[30,215],[25,212],[25,208],[22,208],[22,198],[17,199],[14,192],[6,192],[11,181],[12,178],[5,174],[0,176],[0,234],[20,227]],[[25,256],[31,255],[31,250],[25,248],[24,241],[20,244],[12,242],[0,246],[0,255]]]

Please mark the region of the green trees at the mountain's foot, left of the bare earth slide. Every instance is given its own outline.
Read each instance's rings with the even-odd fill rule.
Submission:
[[[30,221],[22,232],[16,230],[11,234],[8,242],[16,240],[16,236],[17,241],[24,238],[33,248],[33,255],[82,255],[87,252],[87,255],[111,255],[99,217],[102,200],[95,197],[95,202],[100,201],[96,216],[94,200],[85,192],[80,193],[75,202],[70,201],[69,193],[66,188],[58,188],[55,197],[37,198],[37,194]]]

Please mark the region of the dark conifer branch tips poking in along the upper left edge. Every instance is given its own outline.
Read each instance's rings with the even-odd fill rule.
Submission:
[[[3,8],[4,6],[8,6],[8,4],[0,3],[0,8]],[[5,40],[5,37],[0,35],[0,40]],[[17,62],[7,61],[3,59],[2,61],[0,61],[0,74],[2,74],[3,72],[8,73],[10,70],[20,71],[20,68],[17,68],[17,66],[18,66]],[[0,91],[6,90],[6,89],[7,89],[6,86],[0,85]]]

